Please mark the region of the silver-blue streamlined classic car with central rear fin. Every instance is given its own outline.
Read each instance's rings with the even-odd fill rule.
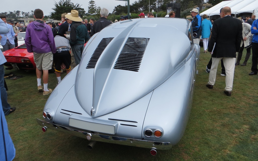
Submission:
[[[186,19],[116,22],[88,41],[82,60],[53,90],[42,130],[91,141],[170,149],[186,129],[200,47]]]

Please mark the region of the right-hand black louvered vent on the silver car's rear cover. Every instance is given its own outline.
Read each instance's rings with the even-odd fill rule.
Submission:
[[[149,38],[128,38],[117,58],[114,69],[138,72],[149,40]]]

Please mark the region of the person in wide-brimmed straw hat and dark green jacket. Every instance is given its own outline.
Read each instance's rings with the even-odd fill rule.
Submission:
[[[82,19],[79,17],[79,12],[71,10],[71,14],[66,14],[67,22],[70,24],[70,40],[69,43],[74,54],[75,64],[78,65],[82,59],[84,43],[90,39],[87,28]]]

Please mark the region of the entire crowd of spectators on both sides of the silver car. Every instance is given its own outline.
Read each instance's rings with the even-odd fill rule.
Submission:
[[[61,82],[61,70],[65,69],[67,73],[78,65],[82,58],[84,44],[95,33],[110,25],[107,20],[108,10],[102,8],[100,19],[94,21],[90,19],[82,20],[77,10],[71,10],[70,13],[61,15],[61,23],[54,24],[44,21],[44,14],[41,9],[34,11],[35,21],[29,24],[6,20],[5,16],[0,16],[0,39],[3,50],[9,50],[17,46],[15,37],[19,32],[26,32],[25,44],[27,51],[33,53],[36,64],[37,90],[43,91],[43,95],[49,95],[52,89],[48,88],[48,70],[55,64],[55,74],[57,85]],[[171,11],[165,17],[175,18],[176,13]],[[144,13],[140,13],[139,18],[146,18]],[[148,18],[154,18],[152,12],[147,14]],[[128,16],[120,16],[119,21],[127,20]],[[131,19],[131,16],[130,18]],[[213,89],[216,80],[216,72],[219,62],[221,62],[222,76],[225,76],[226,87],[224,93],[231,96],[233,87],[235,66],[240,64],[243,50],[247,53],[241,66],[246,66],[252,49],[252,68],[249,75],[258,73],[258,22],[255,15],[246,16],[244,21],[242,17],[237,19],[231,16],[230,7],[223,7],[220,10],[220,18],[209,20],[204,14],[201,18],[197,9],[192,9],[190,15],[186,17],[192,26],[193,43],[199,44],[200,37],[203,40],[204,52],[211,54],[211,59],[206,66],[206,72],[209,73],[206,87]],[[203,19],[203,20],[202,20]],[[118,22],[115,20],[114,23]],[[225,36],[227,35],[227,36]],[[237,55],[238,53],[238,55]],[[237,60],[236,60],[237,59]],[[7,102],[7,92],[4,87],[4,67],[6,59],[3,53],[0,53],[0,90],[1,90],[1,115],[8,115],[15,111]],[[43,74],[42,74],[43,73]],[[42,80],[43,79],[43,86]]]

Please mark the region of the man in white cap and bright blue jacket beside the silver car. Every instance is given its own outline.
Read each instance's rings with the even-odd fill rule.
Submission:
[[[198,44],[200,42],[200,34],[201,34],[201,16],[198,14],[197,9],[193,9],[191,12],[191,15],[193,16],[192,20],[192,29],[193,33],[196,33],[197,36],[193,38],[193,43]]]

